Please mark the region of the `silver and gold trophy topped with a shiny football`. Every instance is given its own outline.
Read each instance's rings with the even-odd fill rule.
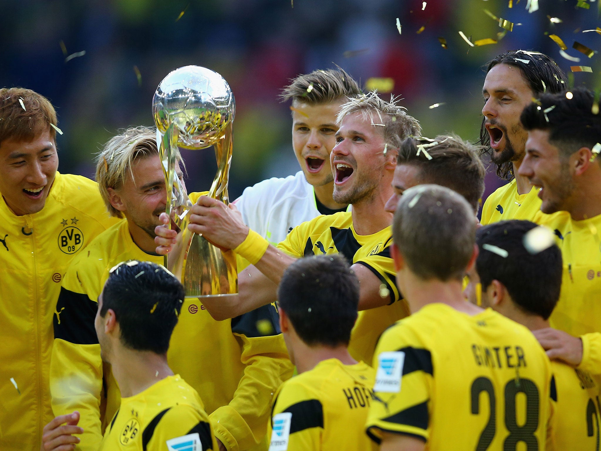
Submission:
[[[218,170],[209,197],[229,203],[228,175],[232,124],[236,105],[227,81],[216,72],[185,66],[169,73],[154,93],[153,115],[157,147],[167,187],[169,227],[176,243],[165,266],[186,290],[186,298],[231,296],[238,292],[236,256],[188,230],[192,201],[175,173],[177,148],[200,150],[213,146]]]

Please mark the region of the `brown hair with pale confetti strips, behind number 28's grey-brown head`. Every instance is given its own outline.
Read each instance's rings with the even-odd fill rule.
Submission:
[[[486,169],[478,156],[479,146],[451,135],[439,135],[435,146],[419,152],[420,144],[429,144],[419,138],[407,138],[398,149],[397,164],[407,164],[419,168],[421,183],[435,183],[459,192],[478,213],[484,193]]]

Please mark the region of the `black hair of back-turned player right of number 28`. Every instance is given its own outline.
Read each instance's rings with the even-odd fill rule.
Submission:
[[[517,307],[548,319],[560,297],[563,264],[556,244],[534,254],[526,250],[524,236],[535,227],[534,222],[514,219],[478,229],[476,270],[483,290],[498,280]],[[484,245],[501,248],[507,257],[484,249]]]

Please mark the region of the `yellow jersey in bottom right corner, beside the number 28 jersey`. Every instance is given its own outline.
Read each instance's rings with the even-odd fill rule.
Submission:
[[[601,421],[599,376],[552,361],[554,449],[596,451]]]

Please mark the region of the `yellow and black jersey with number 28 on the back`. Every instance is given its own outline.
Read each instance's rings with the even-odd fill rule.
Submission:
[[[493,310],[428,304],[382,335],[367,432],[427,449],[544,450],[551,364],[532,333]]]

